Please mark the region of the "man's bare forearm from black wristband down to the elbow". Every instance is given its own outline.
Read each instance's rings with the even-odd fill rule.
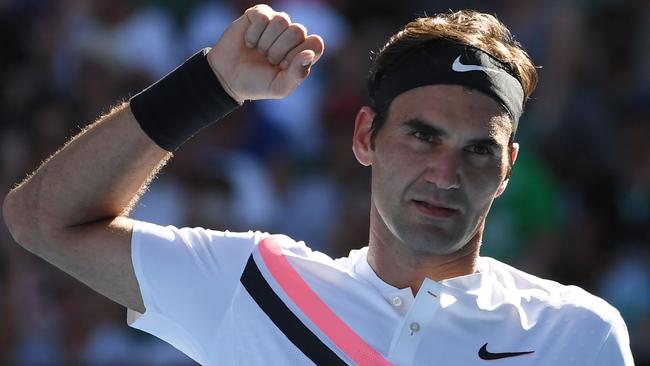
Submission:
[[[49,232],[126,214],[170,156],[142,132],[125,104],[12,190],[5,221],[19,243],[39,245]]]

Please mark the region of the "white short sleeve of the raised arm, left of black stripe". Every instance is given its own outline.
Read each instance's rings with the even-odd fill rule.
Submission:
[[[146,311],[129,309],[128,324],[205,363],[205,349],[264,235],[136,221],[131,258]]]

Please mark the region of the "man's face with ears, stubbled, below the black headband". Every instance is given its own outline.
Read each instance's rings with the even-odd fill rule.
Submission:
[[[462,86],[415,88],[393,100],[370,148],[372,117],[357,116],[354,150],[372,165],[374,235],[433,255],[461,249],[505,189],[511,151],[516,158],[507,114]]]

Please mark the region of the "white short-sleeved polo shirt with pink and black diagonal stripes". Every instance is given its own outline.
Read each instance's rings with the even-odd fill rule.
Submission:
[[[479,273],[425,279],[414,297],[366,254],[333,260],[286,236],[137,222],[146,311],[128,323],[202,365],[313,365],[323,349],[351,365],[634,364],[618,311],[578,287],[480,257]]]

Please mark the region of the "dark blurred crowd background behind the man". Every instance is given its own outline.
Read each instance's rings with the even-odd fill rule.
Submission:
[[[0,0],[3,194],[80,128],[197,49],[250,1]],[[281,232],[332,256],[368,240],[369,170],[351,152],[371,51],[415,16],[495,14],[541,83],[520,123],[483,255],[616,306],[650,365],[650,2],[277,1],[326,52],[281,101],[246,103],[185,145],[134,216]],[[0,225],[0,364],[193,365]]]

